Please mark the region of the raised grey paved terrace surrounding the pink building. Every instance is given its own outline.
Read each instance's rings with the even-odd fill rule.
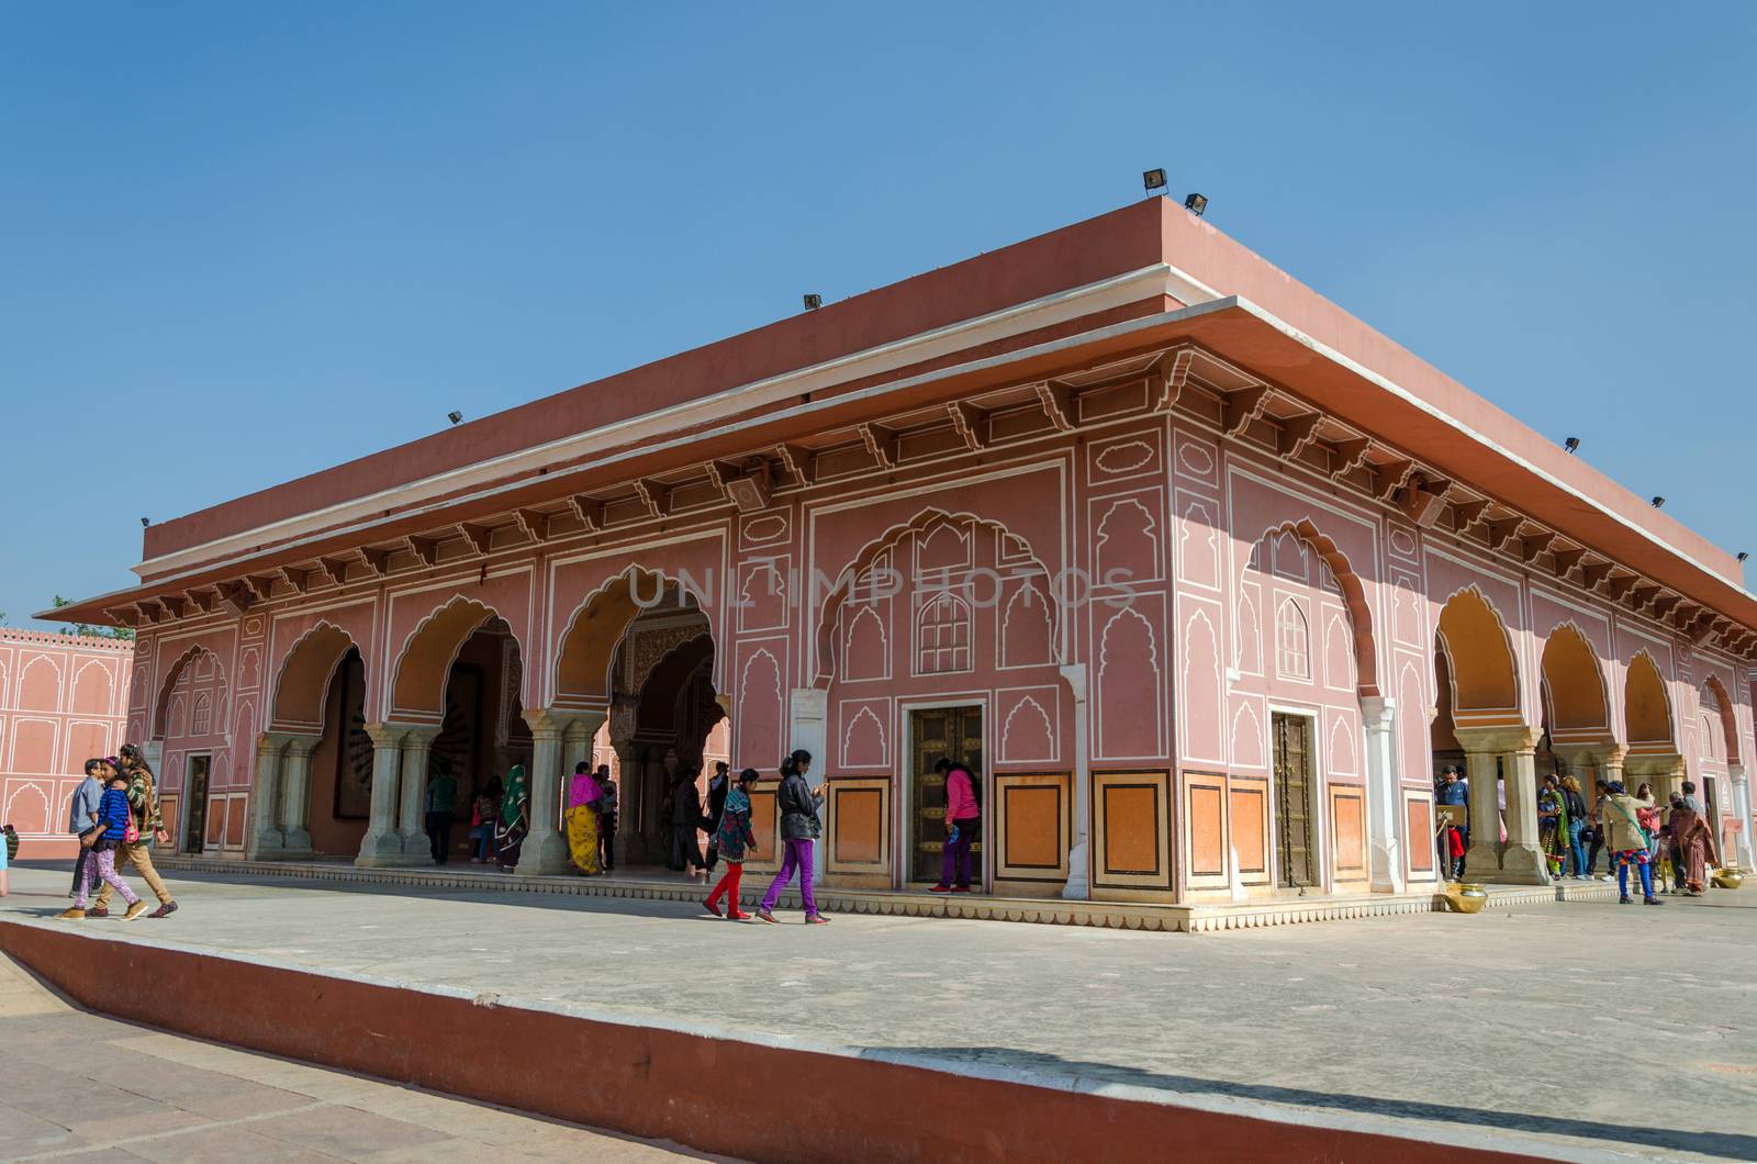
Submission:
[[[1565,1159],[1757,1159],[1750,886],[1662,909],[1571,902],[1204,937],[871,916],[761,927],[664,902],[216,876],[172,886],[184,909],[170,920],[77,925],[1202,1106],[1492,1132]],[[0,913],[47,914],[63,890],[65,874],[14,869]]]

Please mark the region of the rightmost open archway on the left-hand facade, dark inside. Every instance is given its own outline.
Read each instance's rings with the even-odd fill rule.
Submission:
[[[550,716],[566,740],[564,774],[578,760],[611,765],[618,869],[675,865],[673,786],[691,772],[705,802],[715,761],[727,760],[731,700],[715,687],[717,661],[699,598],[641,568],[599,587],[568,624]]]

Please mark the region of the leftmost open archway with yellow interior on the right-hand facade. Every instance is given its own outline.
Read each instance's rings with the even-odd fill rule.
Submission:
[[[1432,730],[1435,767],[1462,753],[1471,786],[1465,874],[1478,881],[1548,884],[1537,844],[1537,731],[1520,709],[1513,638],[1493,603],[1474,586],[1441,608],[1434,656],[1441,700]]]

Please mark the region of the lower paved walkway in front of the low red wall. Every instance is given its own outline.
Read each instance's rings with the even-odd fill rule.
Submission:
[[[683,1157],[713,1159],[88,1015],[0,957],[0,1160]]]

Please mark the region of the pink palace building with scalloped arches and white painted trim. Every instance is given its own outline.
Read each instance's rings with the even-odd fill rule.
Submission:
[[[425,863],[429,772],[462,811],[524,761],[559,874],[596,749],[620,863],[715,753],[770,775],[768,860],[805,747],[849,890],[938,879],[945,754],[1003,897],[1432,891],[1444,763],[1471,879],[1548,881],[1555,770],[1694,779],[1752,863],[1734,557],[1163,199],[153,526],[135,573],[53,617],[139,631],[188,853]]]

